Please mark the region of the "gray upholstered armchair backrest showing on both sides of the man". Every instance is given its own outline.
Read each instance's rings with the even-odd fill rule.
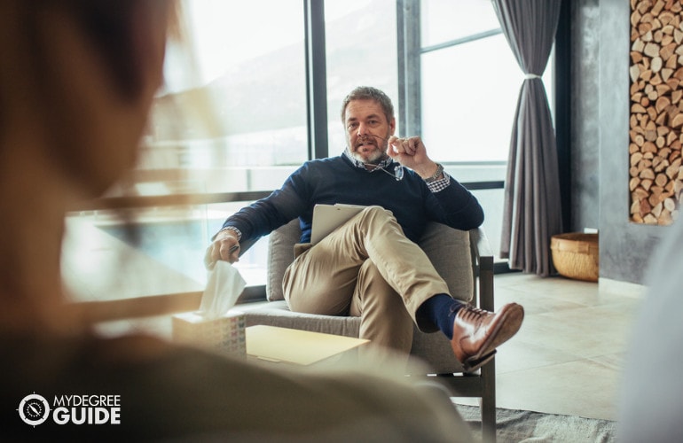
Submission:
[[[301,237],[299,221],[293,220],[271,233],[268,242],[266,296],[270,301],[285,299],[282,278],[294,260],[294,245]],[[451,296],[470,301],[474,295],[469,233],[441,223],[429,223],[419,242],[422,250],[444,278]]]

